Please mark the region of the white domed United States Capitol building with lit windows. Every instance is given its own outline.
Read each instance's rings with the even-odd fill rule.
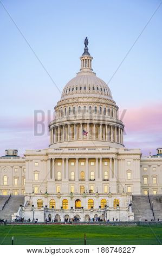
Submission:
[[[119,108],[93,72],[92,60],[86,38],[80,71],[55,106],[49,148],[26,150],[24,157],[7,149],[0,157],[1,200],[18,202],[21,196],[23,202],[12,212],[13,220],[131,221],[140,196],[145,205],[149,195],[162,194],[162,148],[147,157],[140,149],[125,148]]]

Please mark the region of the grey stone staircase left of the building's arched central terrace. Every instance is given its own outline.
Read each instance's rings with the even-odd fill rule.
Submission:
[[[1,197],[5,197],[5,196],[1,196]],[[3,200],[3,198],[0,198],[0,200]],[[5,205],[4,210],[0,210],[0,218],[4,219],[4,220],[7,219],[8,221],[11,221],[12,214],[14,214],[15,212],[18,211],[20,204],[24,205],[24,196],[11,196],[8,204]]]

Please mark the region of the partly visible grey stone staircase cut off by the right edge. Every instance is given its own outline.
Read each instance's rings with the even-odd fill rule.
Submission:
[[[157,221],[158,218],[162,221],[162,195],[150,195],[150,201],[153,202],[153,212],[155,216],[155,220]]]

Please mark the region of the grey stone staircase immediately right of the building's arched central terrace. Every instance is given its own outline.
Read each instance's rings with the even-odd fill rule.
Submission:
[[[148,196],[132,196],[132,212],[134,212],[134,221],[154,219]]]

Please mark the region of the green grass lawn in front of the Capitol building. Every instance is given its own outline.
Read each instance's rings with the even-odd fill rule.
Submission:
[[[0,244],[10,245],[159,245],[162,227],[109,227],[99,225],[0,226]],[[156,238],[157,237],[157,238]],[[158,241],[159,240],[159,241]]]

